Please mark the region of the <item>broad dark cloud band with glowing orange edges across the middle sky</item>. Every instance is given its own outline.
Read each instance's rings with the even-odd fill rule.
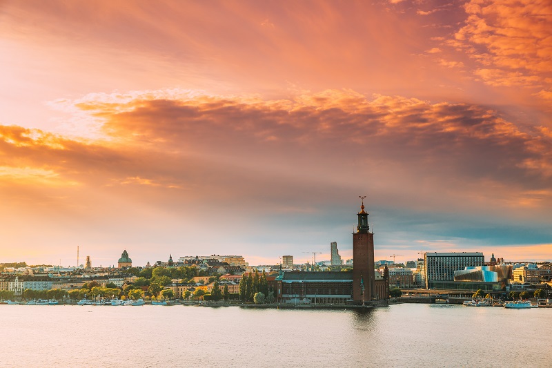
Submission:
[[[104,137],[2,126],[0,185],[25,180],[40,187],[28,193],[34,202],[68,195],[92,214],[103,211],[96,201],[107,195],[182,220],[184,209],[206,215],[197,206],[211,201],[237,218],[270,209],[282,220],[311,213],[325,221],[319,216],[327,206],[342,207],[357,193],[377,193],[375,208],[410,213],[522,215],[525,226],[550,215],[549,129],[522,130],[483,106],[352,90],[275,100],[172,90],[94,94],[72,104],[97,119]],[[392,213],[382,229],[404,221]],[[134,217],[124,209],[107,216],[120,215]]]

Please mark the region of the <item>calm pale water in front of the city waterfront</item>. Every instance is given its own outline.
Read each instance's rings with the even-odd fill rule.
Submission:
[[[0,305],[1,367],[550,367],[552,309]]]

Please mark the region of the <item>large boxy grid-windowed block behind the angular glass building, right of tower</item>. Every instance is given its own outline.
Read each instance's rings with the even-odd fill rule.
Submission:
[[[481,252],[460,253],[424,253],[424,279],[426,289],[442,289],[437,282],[453,282],[454,271],[465,267],[484,265],[484,256]]]

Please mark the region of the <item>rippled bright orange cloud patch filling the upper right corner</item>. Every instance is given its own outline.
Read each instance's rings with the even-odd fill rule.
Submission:
[[[472,0],[449,44],[482,64],[475,75],[491,86],[539,88],[552,73],[552,4]]]

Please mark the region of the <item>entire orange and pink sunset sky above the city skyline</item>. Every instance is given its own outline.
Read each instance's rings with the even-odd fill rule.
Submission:
[[[552,260],[550,0],[0,1],[0,262],[346,260],[364,195]]]

